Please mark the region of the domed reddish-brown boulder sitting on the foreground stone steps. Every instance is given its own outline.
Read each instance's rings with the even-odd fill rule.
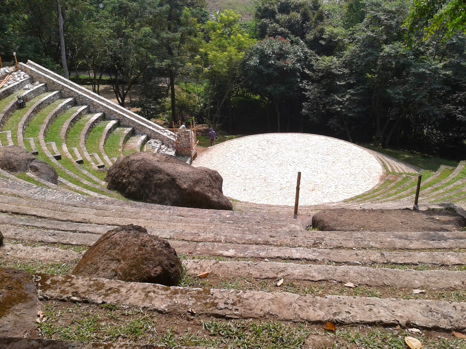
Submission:
[[[82,256],[72,274],[178,286],[181,261],[168,242],[130,224],[102,235]]]

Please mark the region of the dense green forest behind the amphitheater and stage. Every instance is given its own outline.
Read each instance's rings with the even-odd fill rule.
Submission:
[[[462,160],[466,36],[439,17],[442,6],[4,0],[0,57],[12,61],[16,51],[96,93],[110,84],[118,103],[148,119],[195,118],[232,134],[325,134]],[[130,101],[135,84],[139,99]]]

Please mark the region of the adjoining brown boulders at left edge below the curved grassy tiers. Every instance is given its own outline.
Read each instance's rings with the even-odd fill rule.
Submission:
[[[32,172],[43,180],[58,184],[55,168],[18,146],[0,148],[0,168],[10,173]]]

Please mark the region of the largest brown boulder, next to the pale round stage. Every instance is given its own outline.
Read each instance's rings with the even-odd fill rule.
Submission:
[[[124,197],[169,206],[232,210],[217,171],[192,167],[175,157],[138,152],[118,159],[109,169],[108,188]]]

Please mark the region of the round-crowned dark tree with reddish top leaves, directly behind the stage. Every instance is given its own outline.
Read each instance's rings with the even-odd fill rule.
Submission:
[[[291,41],[280,36],[259,41],[244,56],[246,87],[274,106],[277,132],[281,130],[281,108],[289,107],[290,102],[301,96],[309,56],[302,40]],[[291,115],[287,116],[289,119]]]

